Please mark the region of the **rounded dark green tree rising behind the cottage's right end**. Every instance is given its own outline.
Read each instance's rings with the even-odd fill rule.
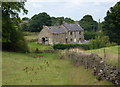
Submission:
[[[97,31],[98,23],[93,20],[91,15],[85,15],[80,21],[79,24],[84,28],[85,31]]]

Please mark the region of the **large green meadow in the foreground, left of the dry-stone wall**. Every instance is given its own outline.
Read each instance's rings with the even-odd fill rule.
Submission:
[[[34,58],[33,55],[42,55],[43,58]],[[3,52],[2,56],[3,85],[111,85],[108,81],[95,82],[91,70],[75,67],[69,60],[60,60],[57,53]],[[26,67],[27,72],[23,70]]]

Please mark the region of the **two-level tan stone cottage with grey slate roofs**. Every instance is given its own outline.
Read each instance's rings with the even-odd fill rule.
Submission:
[[[38,43],[84,43],[84,29],[79,24],[62,24],[60,26],[43,26]]]

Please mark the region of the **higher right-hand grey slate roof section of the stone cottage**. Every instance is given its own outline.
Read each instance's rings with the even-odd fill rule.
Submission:
[[[81,31],[83,28],[79,24],[63,24],[68,31]]]

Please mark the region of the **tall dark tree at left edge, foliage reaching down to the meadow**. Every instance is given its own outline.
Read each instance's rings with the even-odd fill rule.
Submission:
[[[2,3],[2,48],[3,50],[21,51],[28,50],[22,33],[19,31],[20,18],[18,13],[23,10],[24,2]],[[6,21],[7,20],[7,21]]]

